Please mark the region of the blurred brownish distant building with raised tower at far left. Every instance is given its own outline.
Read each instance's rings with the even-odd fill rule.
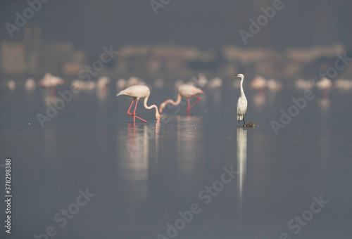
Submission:
[[[39,26],[26,25],[23,41],[0,43],[0,72],[4,75],[77,75],[87,53],[70,42],[42,41]]]

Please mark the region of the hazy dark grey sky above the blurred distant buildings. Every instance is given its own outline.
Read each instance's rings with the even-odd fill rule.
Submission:
[[[37,1],[37,0],[30,0]],[[160,0],[156,0],[160,1]],[[276,0],[278,1],[278,0]],[[352,45],[351,0],[282,0],[282,9],[244,44],[239,30],[249,32],[261,7],[274,0],[170,0],[155,15],[150,0],[50,0],[28,20],[42,25],[42,38],[70,41],[78,49],[99,53],[103,46],[175,43],[201,49],[224,44],[284,49],[337,42]],[[23,28],[9,36],[5,23],[15,25],[27,1],[0,0],[0,39],[23,39]]]

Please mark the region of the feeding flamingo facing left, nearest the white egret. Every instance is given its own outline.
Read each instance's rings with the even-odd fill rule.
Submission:
[[[187,108],[187,115],[189,115],[189,109],[191,109],[194,105],[196,105],[196,103],[199,103],[199,101],[201,101],[201,97],[197,96],[197,93],[204,93],[201,89],[197,88],[196,86],[192,86],[191,84],[183,84],[181,86],[179,86],[178,88],[178,93],[177,93],[177,101],[172,101],[172,99],[168,99],[167,101],[164,101],[163,103],[161,103],[160,105],[160,109],[159,112],[162,113],[163,112],[163,108],[165,108],[165,106],[170,103],[172,105],[179,105],[181,103],[181,98],[187,98],[188,100],[188,108]],[[189,98],[191,98],[191,96],[197,98],[197,101],[194,102],[193,104],[189,104]]]

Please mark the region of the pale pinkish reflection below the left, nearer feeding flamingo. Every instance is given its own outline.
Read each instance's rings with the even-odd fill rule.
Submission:
[[[122,195],[127,209],[127,228],[134,230],[140,205],[149,196],[149,172],[152,160],[158,160],[160,126],[127,124],[117,129],[118,178],[122,179]],[[155,151],[153,146],[155,145]]]

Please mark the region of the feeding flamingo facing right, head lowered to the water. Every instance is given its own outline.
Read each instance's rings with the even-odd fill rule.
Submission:
[[[116,96],[130,96],[133,98],[133,101],[130,105],[130,108],[128,108],[127,110],[127,114],[128,115],[133,115],[133,123],[136,122],[136,117],[139,120],[142,120],[143,122],[148,122],[146,120],[143,120],[141,117],[138,117],[136,115],[136,108],[137,108],[137,104],[140,98],[144,98],[144,108],[146,108],[147,110],[151,110],[151,108],[155,108],[156,113],[155,113],[155,117],[156,117],[156,122],[159,123],[160,122],[160,115],[158,112],[158,106],[156,105],[151,105],[148,106],[146,105],[146,102],[148,101],[149,95],[151,94],[151,91],[149,89],[148,86],[142,86],[142,85],[135,85],[135,86],[130,86],[127,89],[124,89],[123,91],[120,91],[120,93],[118,93]],[[130,109],[134,103],[134,100],[137,99],[136,105],[134,105],[134,111],[133,114],[130,113]]]

